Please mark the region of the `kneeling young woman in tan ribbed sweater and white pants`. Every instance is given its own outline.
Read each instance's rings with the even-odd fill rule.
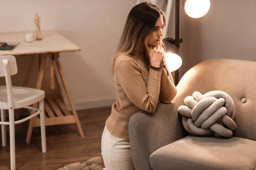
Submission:
[[[148,2],[134,6],[128,14],[112,64],[117,99],[102,134],[106,170],[135,170],[130,117],[139,111],[154,113],[158,102],[170,103],[177,94],[164,60],[165,23],[163,11]]]

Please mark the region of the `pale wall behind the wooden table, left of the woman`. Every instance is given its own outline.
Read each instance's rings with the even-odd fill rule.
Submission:
[[[55,29],[81,48],[62,53],[60,62],[77,109],[112,105],[116,94],[110,74],[126,17],[136,0],[8,0],[0,5],[0,32],[35,30],[35,12],[41,17],[41,29]],[[22,85],[27,57],[17,58],[18,74],[14,85]],[[37,65],[33,68],[35,87]],[[44,89],[48,93],[49,71]],[[1,79],[1,84],[4,79]],[[67,101],[67,100],[66,100]]]

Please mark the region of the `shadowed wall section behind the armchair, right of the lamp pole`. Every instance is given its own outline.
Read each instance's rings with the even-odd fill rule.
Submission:
[[[211,0],[201,18],[188,17],[180,6],[180,75],[206,59],[256,61],[256,0]]]

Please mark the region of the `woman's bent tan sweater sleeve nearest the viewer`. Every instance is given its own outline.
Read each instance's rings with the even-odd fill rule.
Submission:
[[[154,113],[160,93],[162,70],[163,68],[149,68],[146,86],[136,63],[123,59],[117,66],[115,75],[125,94],[137,108],[147,113]]]

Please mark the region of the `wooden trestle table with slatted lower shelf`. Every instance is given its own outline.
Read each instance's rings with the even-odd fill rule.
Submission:
[[[25,87],[28,85],[29,82],[34,59],[35,57],[39,57],[38,61],[40,68],[36,85],[36,88],[38,89],[41,89],[44,77],[44,70],[48,60],[51,75],[50,85],[52,89],[54,89],[56,85],[58,95],[47,96],[46,94],[46,98],[44,100],[45,125],[50,126],[76,123],[81,137],[84,137],[84,133],[81,128],[80,121],[77,116],[76,109],[71,99],[70,91],[67,87],[67,82],[64,78],[61,64],[58,59],[59,53],[61,52],[80,51],[81,49],[73,42],[70,42],[65,37],[58,34],[58,32],[56,31],[42,31],[42,36],[43,40],[26,43],[24,40],[24,32],[0,34],[0,41],[20,42],[20,44],[17,45],[17,47],[15,47],[12,51],[0,51],[0,55],[30,56],[29,67],[27,69],[25,80],[23,83],[23,86]],[[61,84],[64,86],[68,101],[72,109],[72,113],[67,109],[66,105],[64,104],[64,99],[61,94],[60,88],[61,84],[60,82],[58,82],[56,72],[59,73],[59,76],[61,78]],[[33,107],[38,107],[38,103],[35,103]],[[30,111],[30,113],[33,113],[33,111]],[[39,117],[30,119],[26,136],[27,143],[30,143],[33,127],[39,126]]]

